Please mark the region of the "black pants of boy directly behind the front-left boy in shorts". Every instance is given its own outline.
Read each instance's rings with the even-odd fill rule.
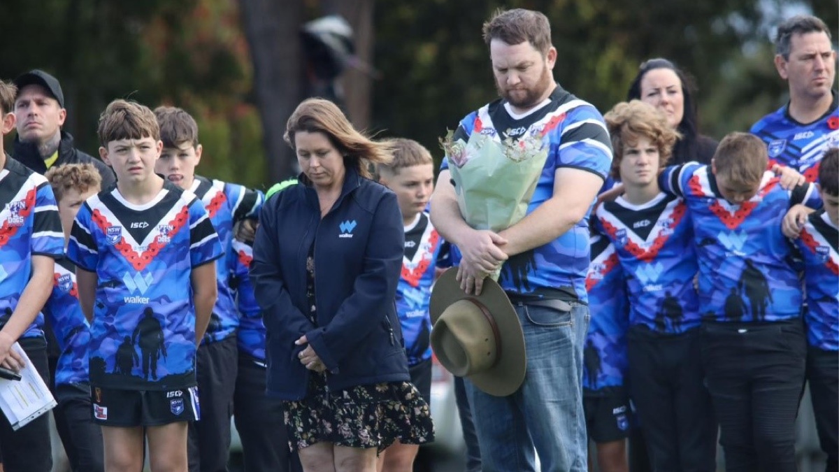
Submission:
[[[201,419],[190,422],[190,472],[227,471],[237,359],[236,336],[201,344],[195,354]]]

